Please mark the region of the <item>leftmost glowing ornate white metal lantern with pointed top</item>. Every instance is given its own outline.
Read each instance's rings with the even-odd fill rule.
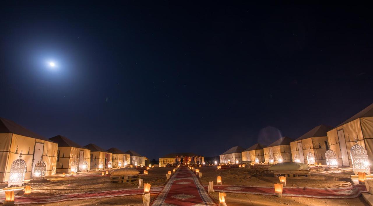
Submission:
[[[10,166],[10,177],[8,181],[8,187],[12,185],[18,185],[18,187],[22,187],[23,183],[25,182],[25,173],[26,173],[26,162],[25,160],[21,159],[22,151],[19,153],[19,159],[13,161],[12,165]]]

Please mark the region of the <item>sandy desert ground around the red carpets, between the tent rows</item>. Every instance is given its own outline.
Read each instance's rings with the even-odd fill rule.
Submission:
[[[150,183],[152,187],[164,186],[167,183],[166,173],[170,168],[151,168],[149,175],[143,176],[145,183]],[[200,168],[203,173],[201,182],[205,185],[209,181],[216,182],[217,176],[222,176],[223,185],[256,185],[273,186],[278,183],[278,178],[273,176],[273,172],[266,170],[266,167],[250,169],[221,169],[216,166],[204,166]],[[85,173],[83,173],[85,174]],[[101,174],[98,171],[91,171],[89,174]],[[294,187],[348,187],[353,183],[350,181],[351,171],[326,171],[325,169],[312,168],[311,178],[298,177],[286,178],[288,186]],[[126,188],[137,188],[138,182],[125,184],[110,184],[109,177],[66,177],[61,178],[61,174],[48,177],[47,183],[32,183],[32,196],[54,196],[58,194],[81,193],[91,191],[108,191]],[[6,187],[5,184],[0,185]],[[219,193],[211,193],[212,199],[219,202]],[[151,195],[151,201],[157,197],[157,194]],[[297,205],[297,206],[318,206],[318,205],[367,205],[360,196],[355,199],[316,199],[305,197],[282,197],[278,198],[272,195],[256,194],[237,194],[227,193],[226,203],[228,206],[251,206],[251,205]],[[131,205],[141,206],[141,195],[98,198],[87,200],[74,200],[48,204],[37,204],[46,206],[65,206],[65,205]],[[31,206],[29,204],[29,206]]]

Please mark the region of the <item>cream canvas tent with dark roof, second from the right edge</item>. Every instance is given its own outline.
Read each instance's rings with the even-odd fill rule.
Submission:
[[[315,162],[325,165],[325,152],[328,150],[326,132],[330,129],[332,127],[319,125],[291,142],[290,147],[293,161],[294,156],[299,155],[300,162],[308,164],[307,154],[311,152],[315,158]]]

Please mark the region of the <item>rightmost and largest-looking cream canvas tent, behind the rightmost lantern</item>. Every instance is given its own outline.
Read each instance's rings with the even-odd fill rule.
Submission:
[[[365,147],[369,161],[372,162],[373,104],[328,131],[327,138],[330,149],[337,154],[338,166],[352,167],[350,149],[355,144],[355,139],[358,144]]]

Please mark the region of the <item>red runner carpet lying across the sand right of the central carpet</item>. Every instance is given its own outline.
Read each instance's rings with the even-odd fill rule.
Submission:
[[[207,185],[205,185],[207,188]],[[214,185],[215,192],[275,195],[273,187]],[[367,193],[365,185],[339,188],[283,187],[282,196],[312,197],[322,199],[351,199]]]

